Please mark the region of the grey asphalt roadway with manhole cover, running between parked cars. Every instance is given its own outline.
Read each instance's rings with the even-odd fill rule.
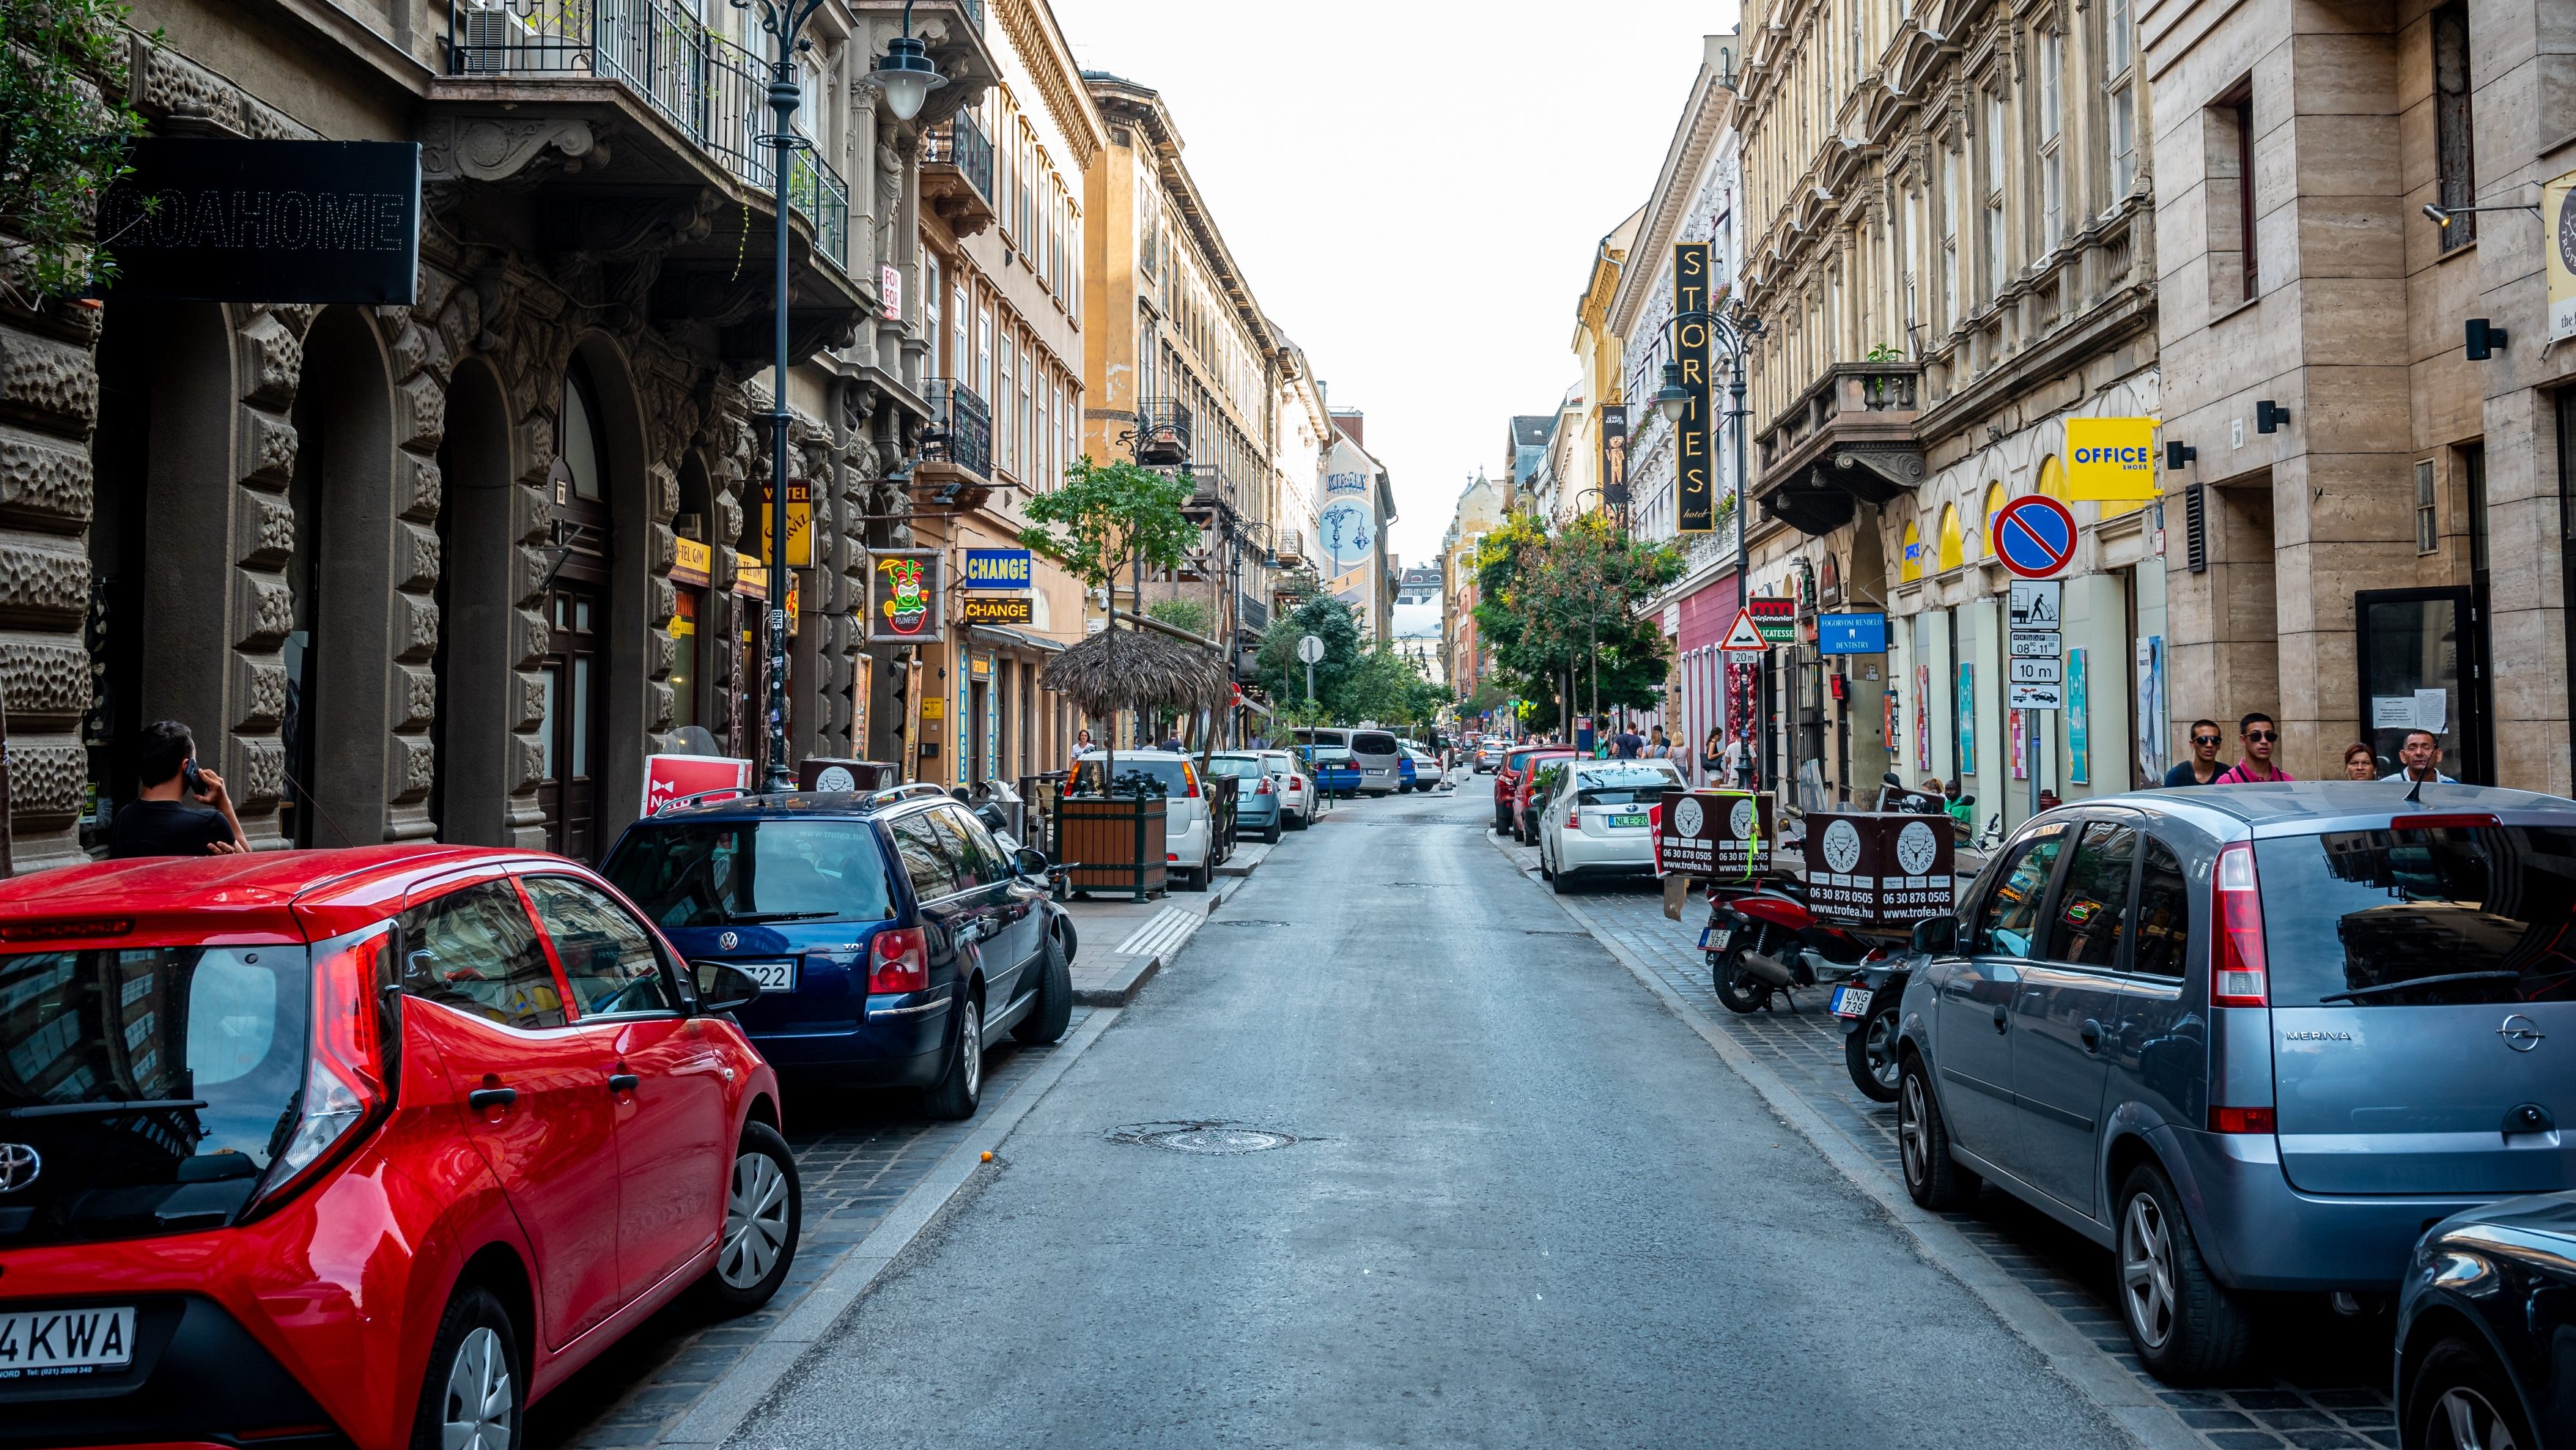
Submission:
[[[1291,837],[734,1445],[2128,1445],[1481,819]]]

